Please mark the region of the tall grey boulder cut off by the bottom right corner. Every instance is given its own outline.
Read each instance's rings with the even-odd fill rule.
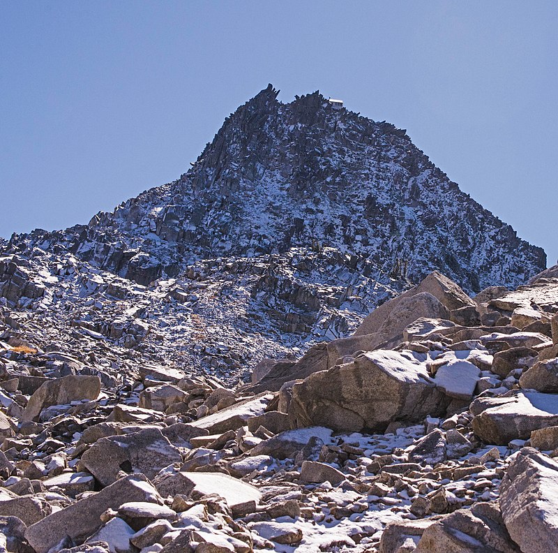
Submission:
[[[499,503],[511,538],[523,553],[556,551],[558,463],[523,448],[508,466]]]

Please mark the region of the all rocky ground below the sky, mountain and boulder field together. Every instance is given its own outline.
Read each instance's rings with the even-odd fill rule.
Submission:
[[[405,131],[276,97],[0,240],[0,552],[557,550],[558,266]]]

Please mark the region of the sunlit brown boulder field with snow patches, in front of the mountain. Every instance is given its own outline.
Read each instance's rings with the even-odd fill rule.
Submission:
[[[557,550],[556,267],[474,299],[434,272],[236,389],[0,321],[0,551]]]

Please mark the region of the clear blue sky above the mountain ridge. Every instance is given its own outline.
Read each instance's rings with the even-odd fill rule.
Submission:
[[[406,128],[557,263],[556,0],[1,0],[0,23],[0,236],[176,179],[271,82]]]

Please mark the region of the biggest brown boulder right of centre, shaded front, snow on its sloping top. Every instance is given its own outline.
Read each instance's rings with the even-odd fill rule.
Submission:
[[[384,432],[390,422],[444,413],[449,399],[420,363],[395,351],[372,351],[293,386],[293,427]]]

